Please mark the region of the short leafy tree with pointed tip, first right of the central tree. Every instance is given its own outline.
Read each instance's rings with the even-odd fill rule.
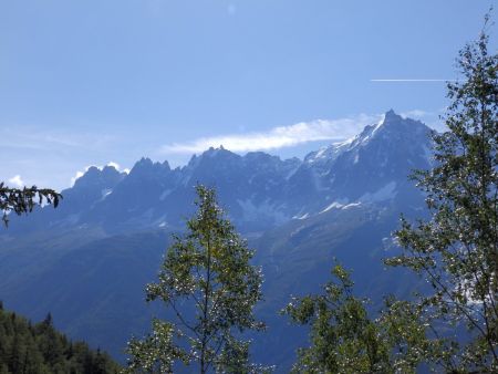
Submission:
[[[298,351],[295,373],[365,373],[388,367],[387,347],[367,318],[364,301],[352,295],[353,283],[340,266],[324,293],[294,298],[283,310],[298,324],[311,324],[311,345]]]

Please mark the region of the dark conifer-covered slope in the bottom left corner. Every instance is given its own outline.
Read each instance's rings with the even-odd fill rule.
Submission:
[[[56,332],[52,316],[34,325],[0,309],[0,373],[118,373],[107,354]]]

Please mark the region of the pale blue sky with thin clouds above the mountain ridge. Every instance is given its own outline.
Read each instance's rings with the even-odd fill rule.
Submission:
[[[0,180],[218,143],[302,157],[388,108],[436,124],[444,83],[372,80],[457,77],[492,2],[0,1]]]

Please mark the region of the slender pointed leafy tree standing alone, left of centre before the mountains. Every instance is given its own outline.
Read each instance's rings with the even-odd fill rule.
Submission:
[[[197,186],[197,214],[184,237],[174,236],[147,301],[162,300],[175,323],[155,320],[143,341],[132,340],[131,371],[173,372],[178,361],[200,373],[260,372],[249,363],[246,330],[262,330],[253,314],[262,277],[253,251],[219,208],[214,189]],[[236,367],[235,367],[236,366]]]

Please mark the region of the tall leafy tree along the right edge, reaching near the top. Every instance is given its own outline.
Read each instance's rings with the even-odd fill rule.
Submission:
[[[387,261],[432,285],[416,307],[444,345],[433,363],[450,372],[498,372],[498,55],[488,43],[483,32],[459,53],[435,167],[414,175],[432,217],[402,219],[403,253]]]

